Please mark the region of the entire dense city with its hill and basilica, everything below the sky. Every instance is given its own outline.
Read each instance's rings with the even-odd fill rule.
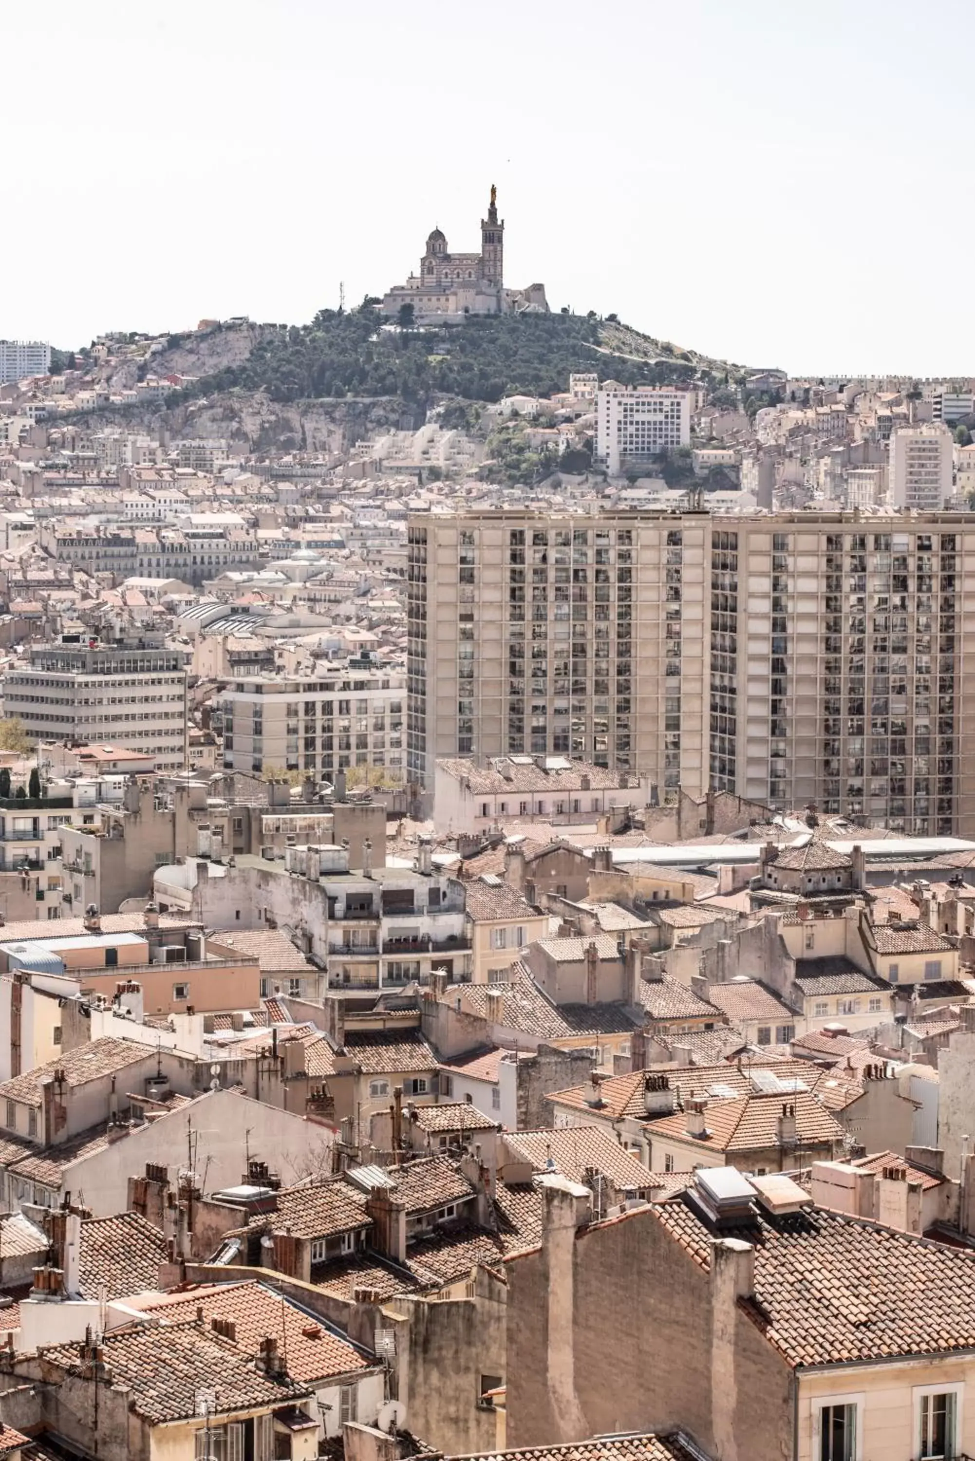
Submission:
[[[485,199],[0,342],[12,1461],[975,1454],[975,377],[550,305]]]

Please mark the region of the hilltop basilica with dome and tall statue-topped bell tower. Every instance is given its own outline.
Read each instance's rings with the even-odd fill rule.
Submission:
[[[449,253],[447,240],[434,228],[420,260],[420,273],[411,275],[406,283],[393,285],[383,300],[383,313],[399,314],[403,304],[412,304],[418,324],[427,318],[463,320],[466,314],[548,310],[544,285],[504,288],[504,219],[497,216],[496,187],[491,187],[488,216],[481,219],[481,253]]]

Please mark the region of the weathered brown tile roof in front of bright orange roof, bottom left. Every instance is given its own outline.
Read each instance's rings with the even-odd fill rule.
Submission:
[[[191,1419],[197,1392],[215,1384],[218,1414],[282,1405],[308,1394],[307,1385],[259,1373],[253,1356],[197,1324],[133,1324],[105,1334],[101,1347],[111,1382],[129,1386],[129,1408],[149,1424]],[[69,1373],[80,1367],[76,1344],[54,1344],[39,1353]]]

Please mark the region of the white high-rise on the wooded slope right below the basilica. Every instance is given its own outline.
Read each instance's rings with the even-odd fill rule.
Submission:
[[[661,451],[690,446],[691,392],[605,381],[596,396],[596,462],[610,476],[648,469]]]

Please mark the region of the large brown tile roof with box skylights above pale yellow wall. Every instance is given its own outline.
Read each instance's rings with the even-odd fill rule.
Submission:
[[[680,1198],[652,1213],[710,1268],[713,1235]],[[726,1236],[754,1245],[754,1302],[743,1308],[791,1365],[975,1347],[975,1254],[820,1208],[759,1213]]]

